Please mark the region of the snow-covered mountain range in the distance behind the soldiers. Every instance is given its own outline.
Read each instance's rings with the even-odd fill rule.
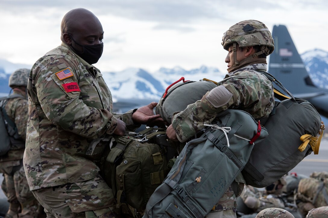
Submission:
[[[319,87],[328,89],[328,52],[313,49],[301,54],[301,58],[313,82]],[[0,59],[0,92],[8,93],[10,73],[25,67],[31,68],[25,64],[15,64]],[[181,77],[194,81],[202,78],[220,81],[225,75],[225,72],[207,66],[191,70],[185,70],[178,66],[172,69],[162,67],[156,72],[148,72],[140,68],[129,68],[120,72],[101,70],[114,99],[159,99],[165,89]]]

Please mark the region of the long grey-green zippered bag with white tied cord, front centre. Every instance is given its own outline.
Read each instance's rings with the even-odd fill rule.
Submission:
[[[239,175],[254,142],[267,136],[249,113],[222,111],[200,137],[184,146],[143,217],[204,217]]]

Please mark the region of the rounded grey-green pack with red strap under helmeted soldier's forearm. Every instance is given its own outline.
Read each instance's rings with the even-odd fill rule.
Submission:
[[[178,83],[180,81],[183,82]],[[161,118],[171,124],[174,112],[184,110],[189,104],[200,100],[206,92],[214,89],[216,86],[214,82],[207,79],[202,81],[185,81],[185,78],[181,77],[167,87],[156,106],[155,113],[161,115]]]

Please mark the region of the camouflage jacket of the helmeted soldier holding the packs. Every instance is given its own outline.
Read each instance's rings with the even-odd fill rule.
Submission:
[[[216,115],[226,109],[240,109],[250,113],[255,119],[267,117],[275,106],[273,84],[256,70],[266,71],[266,64],[251,64],[226,75],[218,83],[225,86],[233,97],[229,103],[214,108],[205,96],[196,101],[172,118],[180,142],[185,142],[204,128],[204,124],[211,123]]]

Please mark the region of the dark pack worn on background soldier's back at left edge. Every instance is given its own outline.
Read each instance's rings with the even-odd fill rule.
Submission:
[[[19,135],[15,123],[8,117],[5,106],[7,101],[12,98],[24,98],[19,94],[12,94],[7,97],[0,98],[0,134],[1,134],[1,144],[0,144],[0,156],[8,153],[10,149],[19,149],[22,146],[15,146],[19,140]],[[25,143],[24,143],[25,146]]]

